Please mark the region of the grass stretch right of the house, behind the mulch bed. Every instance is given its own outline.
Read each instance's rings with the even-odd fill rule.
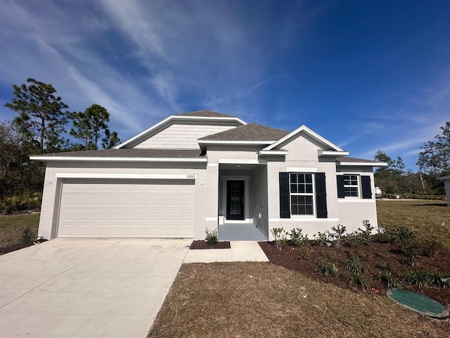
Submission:
[[[377,213],[378,226],[406,225],[420,237],[435,239],[450,250],[450,206],[446,201],[377,201]]]

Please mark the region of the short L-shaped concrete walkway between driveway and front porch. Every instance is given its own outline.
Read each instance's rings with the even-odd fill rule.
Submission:
[[[268,262],[258,242],[233,241],[231,249],[189,250],[183,263]]]

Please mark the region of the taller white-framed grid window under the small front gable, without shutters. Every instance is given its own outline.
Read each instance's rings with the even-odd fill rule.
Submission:
[[[314,177],[309,173],[290,173],[290,213],[314,215]]]

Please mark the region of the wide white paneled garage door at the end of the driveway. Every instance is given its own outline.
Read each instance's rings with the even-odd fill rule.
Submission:
[[[193,180],[66,180],[58,237],[193,237]]]

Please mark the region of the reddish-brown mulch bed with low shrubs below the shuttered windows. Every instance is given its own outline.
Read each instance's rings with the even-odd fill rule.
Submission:
[[[349,286],[345,278],[345,273],[348,269],[345,265],[345,261],[349,258],[350,253],[355,253],[354,247],[340,246],[335,248],[334,246],[313,246],[311,242],[305,245],[307,249],[299,249],[296,246],[290,246],[285,244],[283,249],[276,249],[275,242],[259,242],[269,261],[275,265],[283,266],[289,270],[297,271],[302,275],[307,275],[313,280],[319,282],[325,282],[334,284],[338,287],[349,288],[355,292],[373,292],[375,294],[385,295],[387,286],[384,282],[381,282],[374,278],[374,276],[380,271],[376,266],[380,262],[389,263],[394,268],[393,271],[396,275],[405,275],[409,270],[428,270],[433,273],[440,273],[444,277],[450,277],[450,252],[440,250],[437,251],[433,257],[418,257],[417,264],[414,266],[407,266],[404,263],[404,256],[402,256],[396,250],[394,244],[372,242],[369,245],[361,245],[356,249],[360,256],[364,257],[361,260],[364,266],[364,277],[368,280],[371,289],[368,291],[361,289],[361,287]],[[307,251],[309,255],[306,259],[299,258],[304,257],[304,251]],[[333,277],[326,277],[319,273],[319,262],[323,257],[333,256],[336,267],[338,268],[338,275]],[[401,277],[399,277],[401,280]],[[415,285],[402,282],[404,289],[409,289],[413,292],[418,292],[425,296],[435,299],[442,303],[444,306],[450,306],[450,288],[439,286],[427,286],[420,289]],[[378,291],[378,292],[377,292]]]

